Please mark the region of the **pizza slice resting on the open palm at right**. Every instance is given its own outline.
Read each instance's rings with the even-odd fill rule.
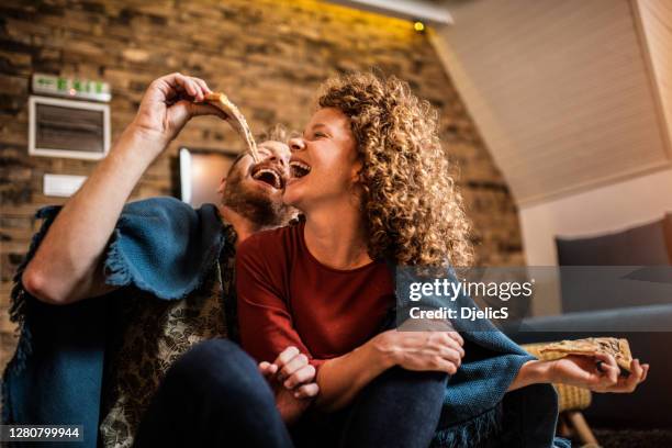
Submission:
[[[568,355],[595,356],[597,354],[607,354],[616,359],[618,367],[628,372],[632,362],[628,340],[616,337],[589,337],[586,339],[562,340],[549,344],[539,351],[541,354],[558,355],[559,358]]]

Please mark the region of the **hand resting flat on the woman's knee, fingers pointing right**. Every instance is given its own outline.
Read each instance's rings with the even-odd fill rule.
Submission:
[[[464,356],[464,340],[457,332],[390,329],[372,340],[391,366],[406,370],[434,370],[453,374]]]

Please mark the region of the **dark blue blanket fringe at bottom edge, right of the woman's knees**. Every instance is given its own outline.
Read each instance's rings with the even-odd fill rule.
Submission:
[[[467,422],[438,429],[432,440],[432,448],[477,447],[488,437],[499,434],[502,429],[501,423],[502,406],[497,404]]]

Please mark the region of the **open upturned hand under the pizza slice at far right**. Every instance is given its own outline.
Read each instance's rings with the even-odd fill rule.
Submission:
[[[568,356],[548,362],[551,382],[578,385],[594,392],[632,392],[649,372],[649,365],[640,365],[635,359],[630,365],[630,374],[621,377],[620,368],[611,355]]]

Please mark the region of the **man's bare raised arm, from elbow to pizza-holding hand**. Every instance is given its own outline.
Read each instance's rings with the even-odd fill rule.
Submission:
[[[195,104],[210,89],[180,74],[152,82],[134,121],[65,204],[22,276],[24,288],[47,303],[67,304],[113,290],[104,283],[108,242],[147,167],[197,115],[223,113]]]

